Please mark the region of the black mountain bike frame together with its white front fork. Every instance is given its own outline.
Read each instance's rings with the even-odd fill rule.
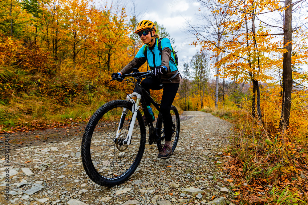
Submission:
[[[136,102],[134,99],[132,99],[132,97],[136,97]],[[156,103],[153,98],[150,96],[150,94],[141,86],[140,84],[140,79],[137,78],[137,83],[135,84],[135,88],[132,94],[128,94],[126,96],[126,101],[130,101],[132,102],[133,106],[132,106],[132,120],[130,122],[129,128],[128,128],[128,135],[126,136],[126,139],[123,140],[123,144],[127,144],[129,145],[131,143],[131,138],[132,138],[132,132],[134,129],[134,125],[136,122],[136,117],[137,117],[137,112],[139,110],[139,108],[143,109],[144,115],[148,121],[148,126],[149,126],[149,134],[150,136],[155,136],[156,139],[158,139],[158,124],[156,123],[156,127],[154,128],[153,122],[152,120],[148,120],[148,119],[152,119],[150,112],[148,111],[147,107],[146,107],[146,98],[148,100],[150,100],[150,102],[154,105],[154,107],[159,111],[158,113],[158,117],[157,117],[157,122],[159,122],[161,114],[160,114],[160,104]],[[139,104],[141,103],[141,107],[139,106]],[[121,130],[123,128],[123,124],[124,124],[124,120],[125,120],[125,116],[127,114],[126,108],[123,108],[122,114],[121,114],[121,118],[120,118],[120,122],[119,122],[119,126],[116,132],[116,136],[115,136],[115,141],[118,139],[118,137],[121,135]]]

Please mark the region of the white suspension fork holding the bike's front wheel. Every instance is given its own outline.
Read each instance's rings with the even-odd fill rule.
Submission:
[[[136,103],[135,103],[134,99],[132,99],[132,97],[137,97]],[[130,122],[130,125],[129,125],[129,128],[128,128],[128,134],[126,136],[126,139],[123,141],[123,144],[129,145],[130,142],[131,142],[132,132],[133,132],[134,125],[135,125],[135,122],[136,122],[137,112],[139,110],[140,99],[141,99],[141,95],[139,93],[136,93],[136,92],[126,96],[126,100],[131,101],[132,104],[133,104],[133,106],[132,106],[132,113],[133,114],[132,114],[132,119],[131,119],[131,122]],[[122,115],[121,115],[121,118],[120,118],[119,127],[118,127],[118,130],[117,130],[117,133],[116,133],[116,138],[118,138],[121,134],[122,127],[120,127],[120,126],[123,126],[124,121],[122,121],[122,120],[125,120],[125,116],[126,116],[127,112],[128,112],[127,109],[123,108],[123,112],[122,112]]]

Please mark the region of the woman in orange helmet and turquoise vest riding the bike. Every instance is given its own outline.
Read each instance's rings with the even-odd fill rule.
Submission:
[[[161,89],[163,85],[163,96],[161,98],[160,110],[164,122],[165,144],[158,154],[159,158],[168,158],[172,155],[171,135],[172,135],[172,117],[170,108],[176,96],[177,89],[180,85],[180,76],[177,70],[176,61],[172,54],[172,47],[168,38],[161,40],[162,52],[158,49],[158,35],[155,34],[156,26],[152,21],[143,20],[138,23],[135,34],[140,36],[143,45],[132,61],[128,63],[120,72],[112,73],[112,78],[117,78],[119,75],[131,73],[133,68],[140,68],[147,60],[151,70],[154,70],[155,76],[145,78],[141,85],[150,93],[151,90]],[[144,50],[147,49],[146,57]],[[150,102],[146,102],[150,106]],[[155,117],[152,118],[153,121]],[[145,116],[144,116],[145,120]],[[146,123],[146,120],[145,120]],[[147,123],[146,123],[147,124]]]

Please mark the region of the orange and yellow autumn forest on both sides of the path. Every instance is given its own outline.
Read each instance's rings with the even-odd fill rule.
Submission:
[[[197,2],[200,22],[186,31],[201,50],[180,60],[174,104],[234,123],[225,155],[236,203],[307,204],[306,1]],[[125,97],[109,80],[142,46],[139,20],[90,0],[0,1],[0,131],[87,122]],[[161,94],[152,92],[157,101]]]

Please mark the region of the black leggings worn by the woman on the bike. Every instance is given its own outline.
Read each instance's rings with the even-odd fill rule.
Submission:
[[[170,108],[173,103],[173,100],[176,96],[177,89],[179,88],[179,83],[160,83],[160,79],[158,77],[145,78],[141,85],[144,89],[150,93],[151,90],[160,90],[159,86],[162,84],[164,86],[163,96],[160,101],[160,110],[163,116],[164,122],[164,132],[165,132],[165,141],[171,141],[171,132],[172,132],[172,117],[170,114]],[[150,105],[151,102],[146,99],[146,104]]]

